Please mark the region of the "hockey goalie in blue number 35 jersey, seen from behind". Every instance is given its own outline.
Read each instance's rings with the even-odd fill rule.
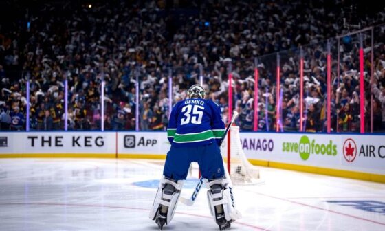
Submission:
[[[197,162],[207,182],[210,212],[219,230],[225,230],[241,218],[235,208],[231,180],[225,174],[219,149],[225,124],[219,106],[204,99],[205,91],[201,85],[192,85],[187,96],[171,111],[167,129],[171,148],[149,217],[155,220],[160,230],[170,223],[188,168],[191,162]]]

